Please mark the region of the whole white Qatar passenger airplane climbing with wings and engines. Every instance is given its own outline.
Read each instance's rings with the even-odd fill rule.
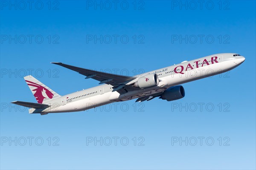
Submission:
[[[99,85],[72,94],[61,96],[32,77],[24,77],[38,103],[12,102],[29,108],[29,113],[63,113],[85,111],[113,102],[137,99],[136,102],[149,101],[156,97],[173,101],[185,96],[181,84],[211,77],[230,71],[244,62],[245,58],[236,53],[214,54],[180,64],[160,68],[134,77],[93,71],[61,62],[52,62],[82,74],[85,79],[95,79]]]

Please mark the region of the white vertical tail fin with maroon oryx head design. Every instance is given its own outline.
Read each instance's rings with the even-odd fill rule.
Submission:
[[[60,97],[59,94],[48,88],[43,83],[39,82],[34,77],[26,76],[24,77],[24,79],[26,80],[26,83],[28,84],[32,94],[35,96],[35,99],[38,101],[38,103],[46,103],[50,99]]]

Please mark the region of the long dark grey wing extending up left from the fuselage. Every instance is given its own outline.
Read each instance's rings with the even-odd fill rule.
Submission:
[[[113,91],[117,91],[120,94],[126,93],[127,90],[124,89],[127,82],[130,82],[131,80],[136,79],[136,77],[129,77],[129,76],[122,76],[122,75],[116,75],[116,74],[110,74],[110,73],[104,73],[101,71],[94,71],[86,68],[80,68],[73,65],[67,65],[63,64],[61,62],[51,62],[52,64],[61,65],[62,67],[68,68],[70,70],[76,71],[79,74],[82,74],[85,77],[85,79],[96,79],[99,81],[99,84],[108,84],[113,85]],[[129,87],[129,90],[132,90],[134,88]]]

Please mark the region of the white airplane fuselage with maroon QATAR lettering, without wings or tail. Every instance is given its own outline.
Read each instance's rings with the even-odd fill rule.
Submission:
[[[38,112],[60,113],[85,111],[87,109],[106,105],[112,102],[136,99],[142,96],[159,93],[175,85],[221,74],[236,68],[242,62],[244,62],[244,57],[235,56],[233,53],[214,54],[136,76],[143,77],[147,74],[156,73],[160,82],[153,88],[128,91],[127,93],[120,95],[117,91],[113,91],[112,85],[99,85],[52,99],[50,103],[46,103],[51,105],[49,108]],[[136,79],[128,84],[135,81]],[[29,113],[32,112],[36,113],[35,109],[29,111]]]

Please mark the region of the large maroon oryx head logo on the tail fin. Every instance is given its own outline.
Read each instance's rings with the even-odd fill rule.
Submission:
[[[44,99],[47,98],[47,97],[45,97],[45,96],[43,95],[43,92],[44,92],[45,94],[47,94],[47,96],[48,96],[50,99],[52,99],[53,94],[52,94],[52,92],[50,92],[47,88],[44,88],[43,86],[38,85],[38,84],[36,84],[35,82],[30,82],[30,81],[28,81],[28,80],[26,80],[26,82],[27,82],[28,85],[31,85],[31,86],[35,87],[35,89],[32,90],[32,91],[35,91],[34,96],[35,96],[35,99],[38,101],[38,103],[43,103]]]

